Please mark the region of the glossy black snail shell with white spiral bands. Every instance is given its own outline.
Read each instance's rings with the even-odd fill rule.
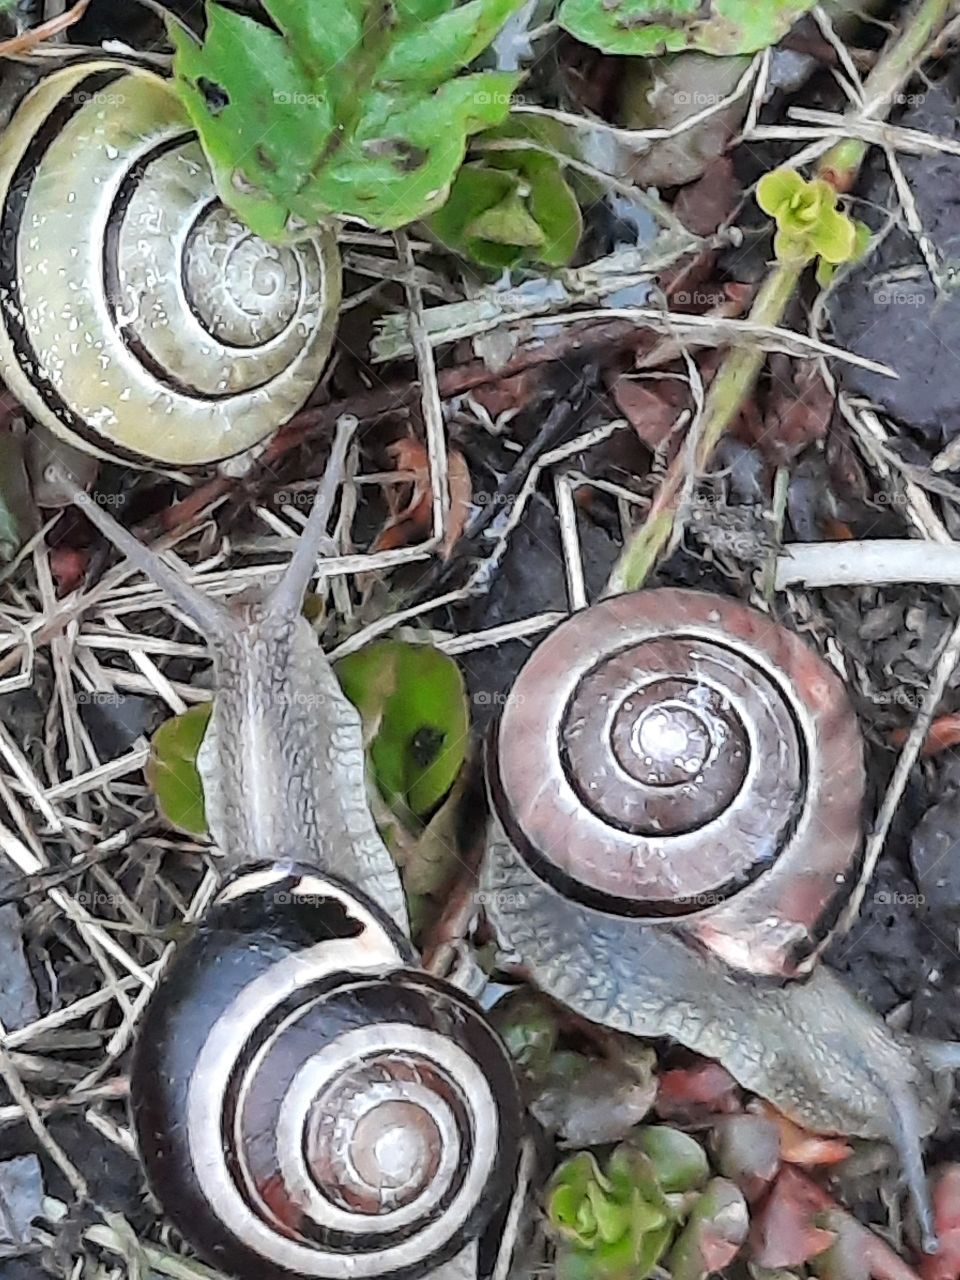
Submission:
[[[147,1007],[147,1180],[243,1280],[474,1276],[520,1158],[506,1050],[370,901],[289,864],[220,895]],[[493,1243],[489,1236],[493,1233]]]

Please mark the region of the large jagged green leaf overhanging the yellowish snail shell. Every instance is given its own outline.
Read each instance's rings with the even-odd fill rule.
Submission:
[[[221,200],[273,241],[335,214],[389,229],[439,207],[467,137],[507,118],[520,81],[456,73],[522,3],[269,0],[274,31],[209,0],[202,42],[170,19]]]

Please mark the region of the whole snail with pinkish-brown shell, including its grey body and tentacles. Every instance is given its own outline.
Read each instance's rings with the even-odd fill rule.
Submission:
[[[897,1151],[936,1248],[923,1138],[959,1047],[901,1036],[818,964],[859,872],[845,689],[737,602],[657,589],[573,614],[488,742],[483,901],[584,1018],[668,1037],[819,1133]]]

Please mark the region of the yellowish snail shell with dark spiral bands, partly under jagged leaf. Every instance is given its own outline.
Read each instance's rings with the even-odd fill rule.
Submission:
[[[315,388],[333,232],[248,232],[155,73],[96,60],[41,79],[0,138],[0,375],[70,444],[197,466],[250,449]]]

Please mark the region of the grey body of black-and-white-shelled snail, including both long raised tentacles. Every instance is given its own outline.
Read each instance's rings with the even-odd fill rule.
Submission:
[[[69,476],[58,471],[58,479],[207,643],[215,698],[197,768],[225,872],[284,858],[308,861],[356,884],[406,931],[399,873],[367,801],[360,714],[302,614],[355,428],[356,419],[338,426],[317,500],[280,581],[229,608],[195,590]]]

